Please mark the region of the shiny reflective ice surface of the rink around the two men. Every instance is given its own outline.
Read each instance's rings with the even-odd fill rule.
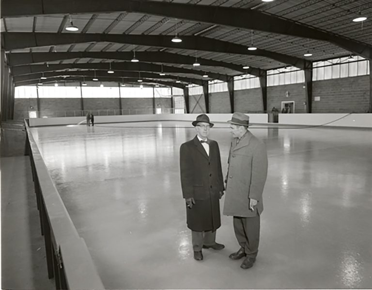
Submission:
[[[242,270],[228,258],[239,247],[232,217],[217,230],[226,248],[192,258],[178,161],[191,124],[32,129],[107,289],[372,288],[372,131],[251,131],[267,144],[269,171],[260,251]],[[210,137],[226,174],[227,124]]]

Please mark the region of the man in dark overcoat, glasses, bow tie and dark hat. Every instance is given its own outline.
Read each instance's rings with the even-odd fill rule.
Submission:
[[[225,247],[216,242],[216,230],[221,226],[219,199],[224,185],[218,144],[208,139],[214,124],[206,114],[201,114],[192,125],[197,135],[180,148],[181,186],[194,258],[202,260],[202,248]]]

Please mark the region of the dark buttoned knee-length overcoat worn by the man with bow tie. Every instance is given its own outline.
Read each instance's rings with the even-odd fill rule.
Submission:
[[[187,227],[215,231],[221,226],[219,192],[224,190],[217,142],[209,139],[209,157],[197,136],[182,144],[180,170],[183,197],[195,199],[192,209],[186,207]]]

